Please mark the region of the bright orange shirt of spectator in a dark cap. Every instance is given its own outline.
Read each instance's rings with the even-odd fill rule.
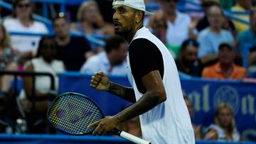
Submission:
[[[227,75],[226,72],[222,72],[220,68],[220,62],[215,65],[205,67],[203,69],[203,78],[213,78],[213,79],[242,79],[246,77],[246,70],[243,67],[233,64],[233,71]]]

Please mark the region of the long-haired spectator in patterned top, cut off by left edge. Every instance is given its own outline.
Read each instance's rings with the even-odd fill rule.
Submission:
[[[6,28],[0,23],[0,71],[17,70],[18,52],[11,48],[9,34]],[[16,116],[14,113],[14,101],[9,93],[11,87],[11,75],[0,75],[0,133],[6,131],[7,126],[12,126],[11,119]],[[8,109],[9,111],[6,111]]]

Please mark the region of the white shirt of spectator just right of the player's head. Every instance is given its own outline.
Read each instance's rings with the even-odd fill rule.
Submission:
[[[174,23],[167,21],[166,41],[170,45],[181,45],[188,38],[188,25],[191,18],[186,13],[176,11]]]

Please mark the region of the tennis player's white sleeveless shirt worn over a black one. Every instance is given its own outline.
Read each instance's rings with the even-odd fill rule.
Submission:
[[[149,32],[148,28],[143,27],[139,29],[134,35],[133,40],[137,38],[146,38],[159,48],[164,60],[163,83],[166,90],[166,101],[139,116],[142,137],[145,140],[149,140],[152,144],[195,143],[193,127],[181,92],[181,83],[174,58],[165,45]],[[129,82],[134,88],[138,101],[142,94],[137,89],[132,75],[129,53],[127,55],[127,66]]]

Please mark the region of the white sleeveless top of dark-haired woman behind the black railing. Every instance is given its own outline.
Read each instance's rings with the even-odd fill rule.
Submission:
[[[65,70],[64,64],[60,60],[53,60],[50,64],[43,60],[42,57],[34,58],[31,60],[33,65],[33,72],[48,72],[53,74],[55,80],[55,93],[58,94],[58,73],[63,72]],[[28,65],[28,63],[26,63]],[[25,66],[26,67],[26,66]],[[35,90],[36,92],[47,94],[51,92],[50,89],[50,77],[48,76],[37,76],[35,81]],[[22,89],[21,94],[19,95],[20,99],[25,99],[26,94]]]

